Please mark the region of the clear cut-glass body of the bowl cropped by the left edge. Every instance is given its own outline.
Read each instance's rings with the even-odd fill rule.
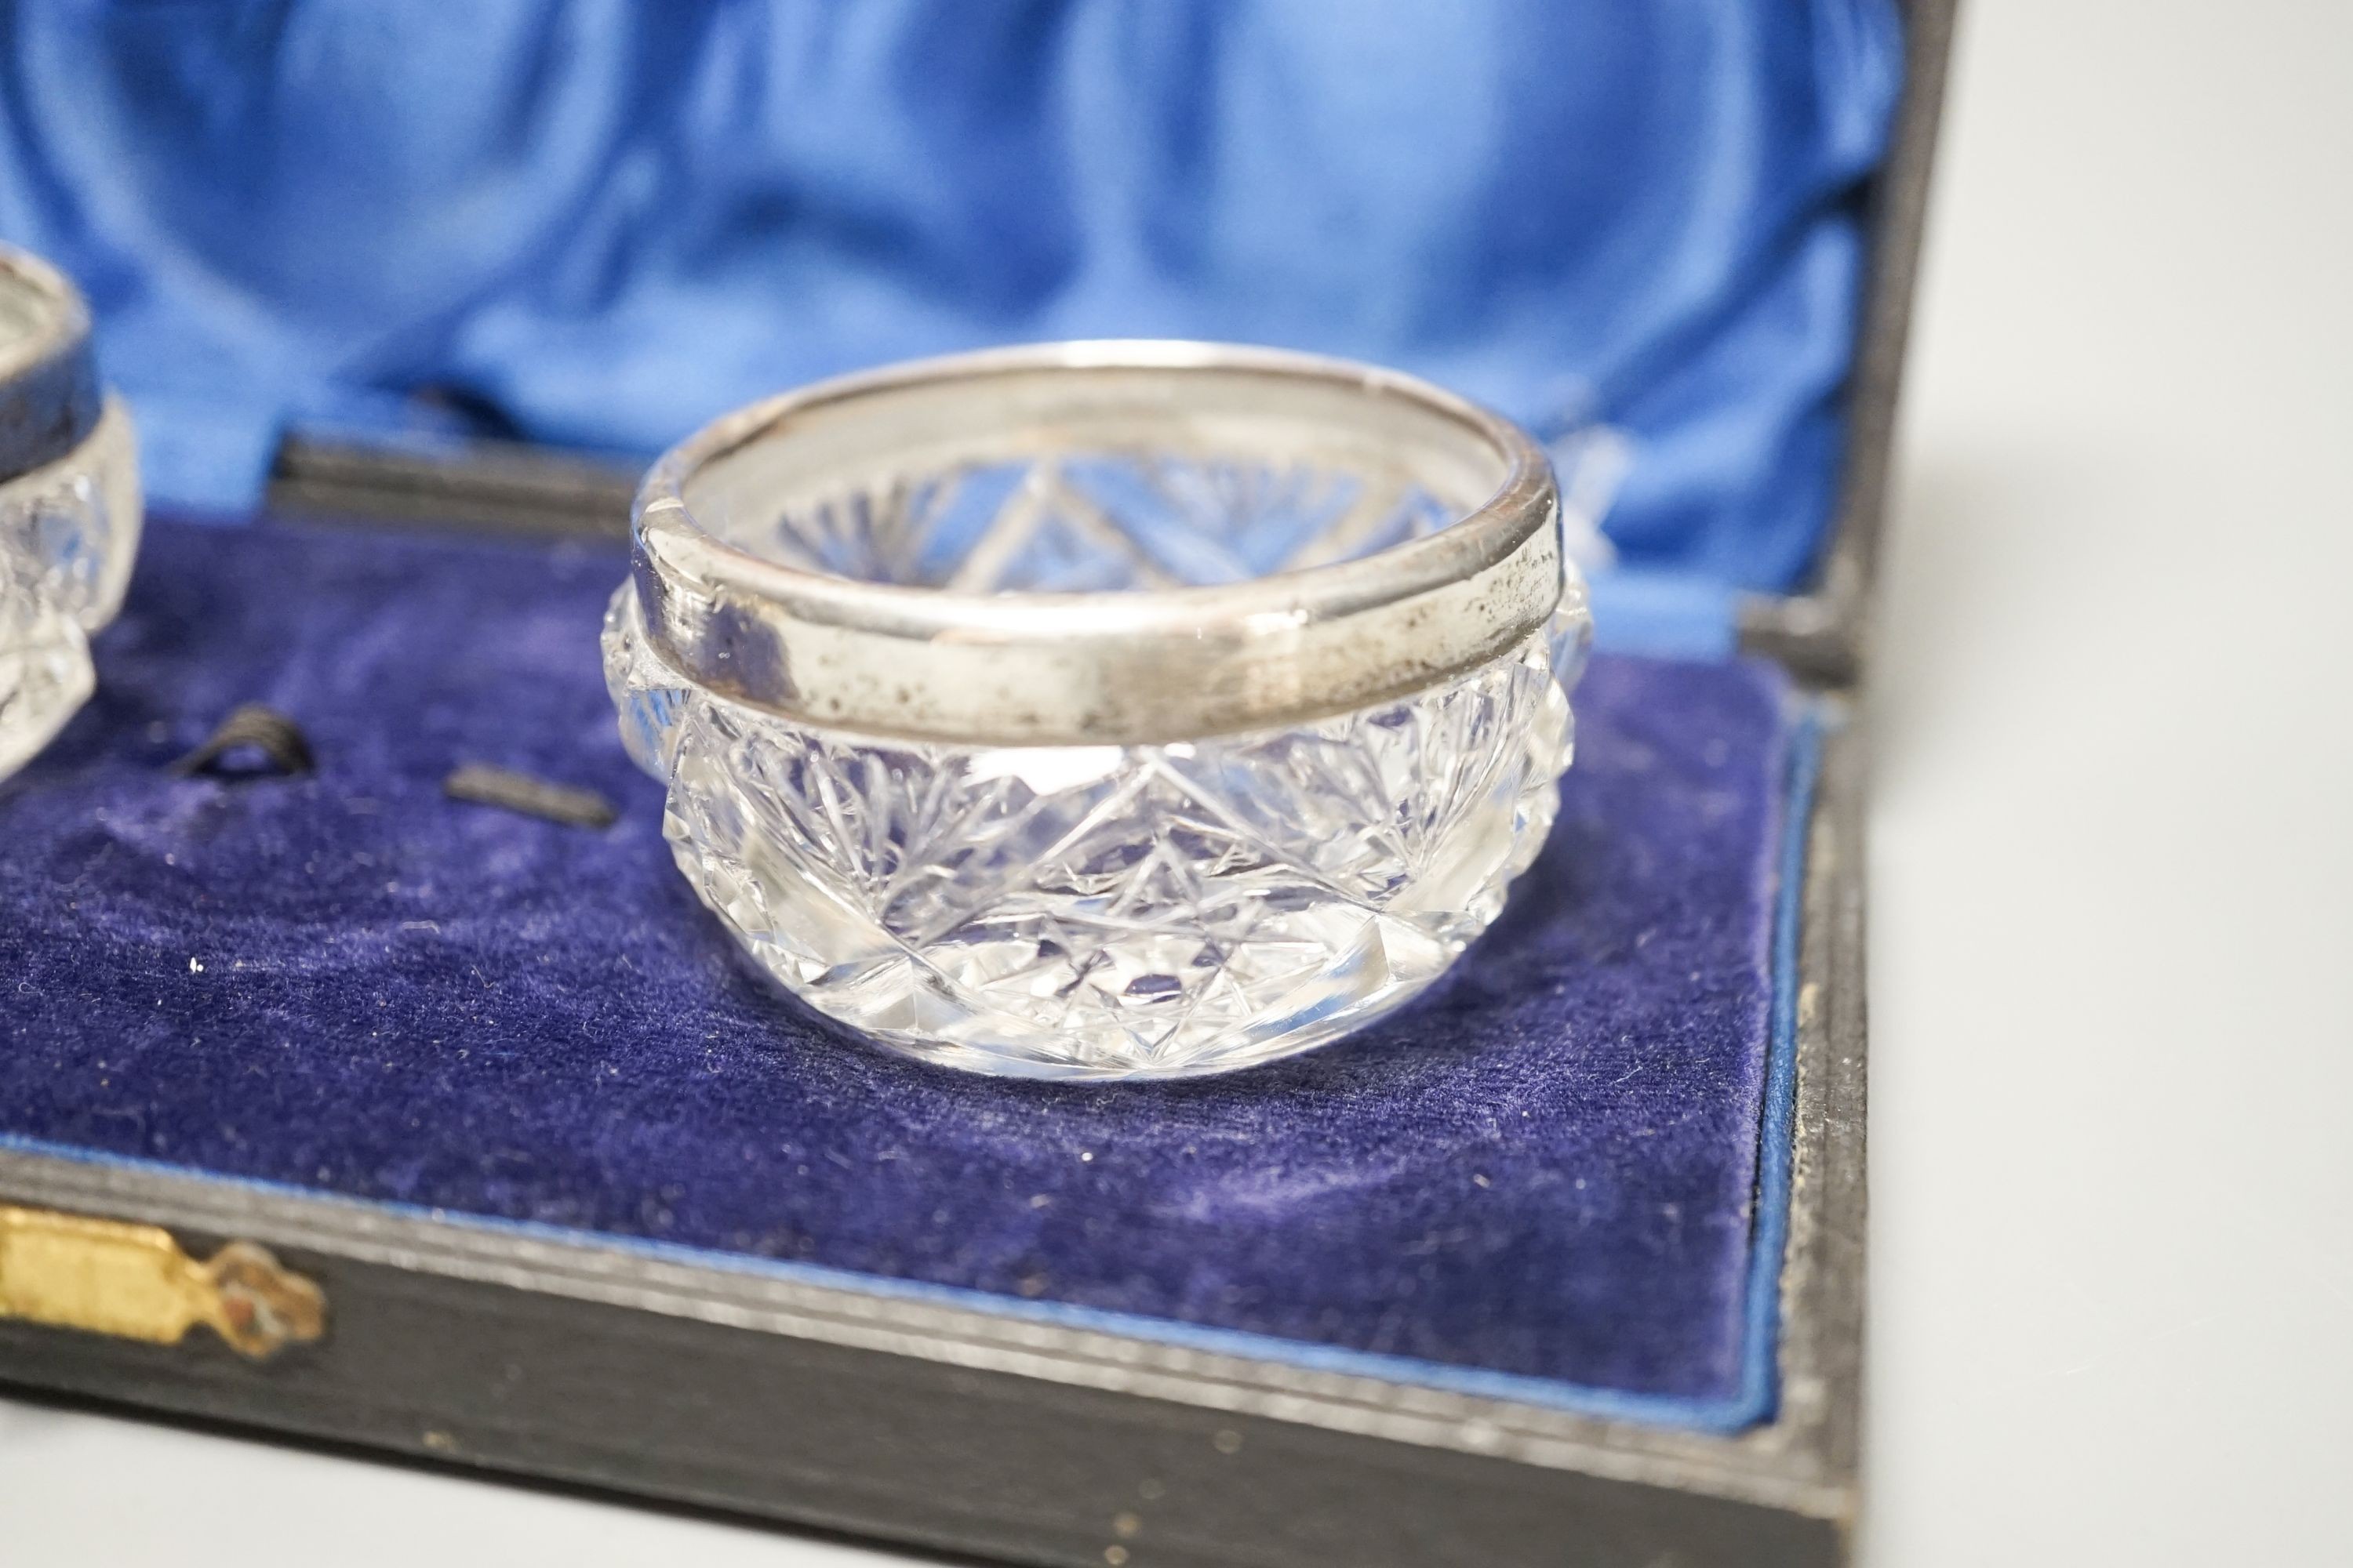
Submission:
[[[139,461],[122,409],[56,463],[0,484],[0,778],[89,698],[89,632],[122,604],[136,545]]]

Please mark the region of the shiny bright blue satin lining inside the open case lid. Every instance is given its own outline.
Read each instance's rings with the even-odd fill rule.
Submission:
[[[16,24],[0,235],[73,270],[153,496],[289,433],[642,456],[1059,336],[1400,364],[1544,435],[1602,635],[1722,651],[1838,517],[1892,0],[513,0]],[[1875,440],[1875,437],[1873,437]]]

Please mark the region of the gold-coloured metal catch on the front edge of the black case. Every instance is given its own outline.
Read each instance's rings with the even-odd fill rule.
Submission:
[[[0,1319],[179,1345],[207,1324],[242,1356],[327,1331],[327,1298],[252,1241],[207,1262],[155,1225],[0,1204]]]

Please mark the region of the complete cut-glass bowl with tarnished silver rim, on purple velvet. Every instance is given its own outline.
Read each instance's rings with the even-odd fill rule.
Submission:
[[[1435,980],[1544,842],[1586,637],[1508,421],[1337,360],[1061,343],[689,437],[605,661],[769,976],[918,1056],[1115,1079]]]

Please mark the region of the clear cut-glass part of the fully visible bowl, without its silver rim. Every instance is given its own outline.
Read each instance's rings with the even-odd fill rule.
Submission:
[[[965,590],[1158,588],[1365,555],[1449,512],[1325,473],[1115,458],[795,508],[795,567]],[[758,964],[831,1018],[988,1072],[1179,1077],[1388,1013],[1497,917],[1569,762],[1584,618],[1407,698],[1160,745],[951,745],[704,691],[605,621],[666,835]]]

